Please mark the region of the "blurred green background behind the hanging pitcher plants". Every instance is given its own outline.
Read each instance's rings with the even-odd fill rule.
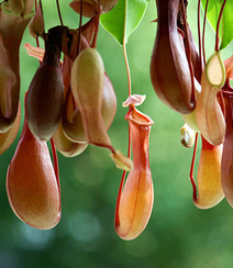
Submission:
[[[197,40],[197,1],[189,1],[189,23]],[[60,1],[64,23],[78,27],[78,15]],[[46,30],[59,24],[55,1],[43,1]],[[21,131],[13,145],[0,156],[0,268],[219,268],[232,267],[233,211],[223,200],[214,209],[201,211],[192,203],[189,168],[192,148],[180,145],[181,116],[155,96],[149,80],[149,59],[156,34],[155,1],[127,44],[133,93],[146,94],[140,110],[154,120],[151,133],[151,168],[155,201],[146,230],[134,241],[122,241],[114,232],[114,206],[121,171],[109,152],[89,146],[78,157],[60,154],[62,220],[51,231],[22,223],[10,209],[5,174]],[[214,36],[207,34],[207,55],[213,52]],[[22,44],[35,41],[26,30]],[[127,80],[122,47],[100,27],[98,51],[118,97],[115,120],[109,131],[115,148],[126,154]],[[223,53],[230,56],[232,46]],[[38,67],[21,47],[22,98]],[[22,127],[22,126],[21,126]],[[200,152],[200,144],[199,144]],[[198,165],[198,161],[196,166]]]

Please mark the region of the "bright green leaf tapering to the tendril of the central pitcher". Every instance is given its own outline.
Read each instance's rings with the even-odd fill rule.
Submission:
[[[121,44],[126,44],[146,11],[147,0],[119,0],[110,12],[100,16],[101,25]]]

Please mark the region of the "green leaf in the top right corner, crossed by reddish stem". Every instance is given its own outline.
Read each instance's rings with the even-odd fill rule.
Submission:
[[[206,9],[207,0],[201,0],[203,10]],[[217,23],[222,7],[223,0],[209,0],[207,18],[217,32]],[[225,48],[233,40],[233,0],[228,0],[224,7],[222,22],[220,26],[220,38],[222,40],[221,49]]]

